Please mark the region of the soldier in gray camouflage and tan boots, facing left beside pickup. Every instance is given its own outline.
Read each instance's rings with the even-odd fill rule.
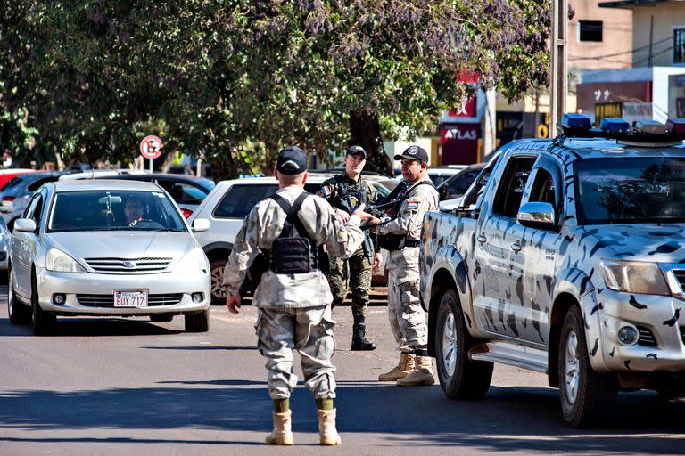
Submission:
[[[428,356],[428,328],[418,299],[418,243],[426,211],[438,208],[438,192],[428,178],[428,153],[411,146],[395,159],[402,162],[407,190],[395,218],[377,228],[381,247],[390,250],[388,268],[388,318],[400,347],[400,362],[381,374],[381,381],[400,386],[433,385],[433,360]]]

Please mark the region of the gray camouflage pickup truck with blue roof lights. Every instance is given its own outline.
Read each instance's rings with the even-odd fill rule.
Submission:
[[[483,397],[501,362],[546,374],[574,428],[619,390],[685,396],[684,129],[565,116],[426,216],[421,299],[446,395]]]

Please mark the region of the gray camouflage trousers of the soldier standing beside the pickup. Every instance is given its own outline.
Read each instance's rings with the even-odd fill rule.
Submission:
[[[402,352],[428,345],[425,312],[418,299],[418,248],[404,248],[388,256],[388,320]]]

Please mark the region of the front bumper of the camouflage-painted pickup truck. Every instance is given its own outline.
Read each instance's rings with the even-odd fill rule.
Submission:
[[[685,302],[610,289],[602,290],[598,302],[602,310],[587,318],[598,318],[607,371],[685,371]],[[618,330],[626,324],[640,332],[634,346],[618,340]],[[591,338],[590,334],[590,348],[595,342]]]

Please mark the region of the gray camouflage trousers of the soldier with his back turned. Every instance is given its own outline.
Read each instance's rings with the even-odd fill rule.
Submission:
[[[316,399],[335,397],[335,367],[331,306],[304,308],[260,307],[255,330],[260,354],[267,358],[268,394],[285,399],[297,385],[293,350],[301,356],[305,385]]]

